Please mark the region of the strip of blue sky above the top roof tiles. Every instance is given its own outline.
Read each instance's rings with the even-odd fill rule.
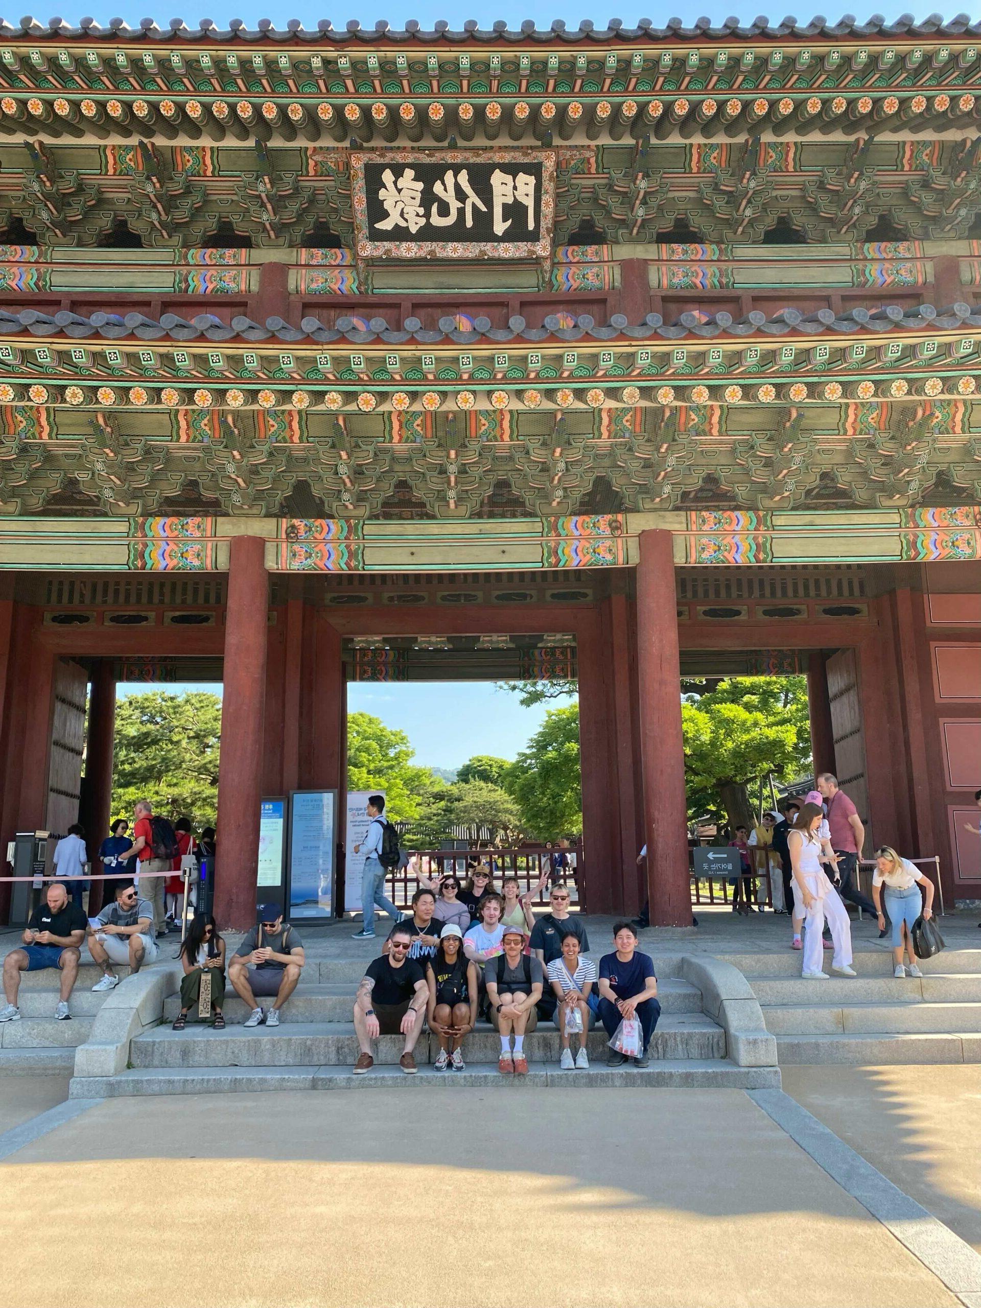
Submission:
[[[761,12],[759,0],[753,0],[753,5],[738,9],[732,5],[731,0],[718,0],[718,3],[705,3],[705,0],[698,0],[697,5],[676,3],[676,0],[670,0],[667,4],[640,4],[640,5],[613,5],[607,4],[604,8],[591,9],[587,5],[577,5],[574,9],[566,9],[564,4],[556,3],[551,5],[543,5],[542,9],[536,4],[528,4],[527,0],[523,3],[515,3],[515,0],[494,0],[493,4],[446,4],[445,0],[437,0],[437,3],[430,3],[430,0],[379,0],[373,9],[368,12],[358,12],[361,9],[360,4],[351,4],[345,8],[332,9],[327,5],[310,5],[303,4],[302,0],[280,0],[280,4],[272,5],[268,0],[262,0],[259,4],[251,3],[251,0],[229,0],[229,3],[208,3],[200,7],[191,5],[171,5],[169,8],[157,8],[152,4],[146,4],[141,0],[139,9],[132,9],[127,12],[126,7],[119,7],[115,4],[114,8],[106,9],[93,9],[90,5],[85,8],[59,9],[58,12],[69,24],[77,24],[78,18],[84,14],[93,14],[95,20],[103,25],[109,22],[115,14],[120,14],[127,20],[131,26],[136,26],[144,14],[150,14],[156,18],[161,27],[166,27],[170,18],[175,16],[175,10],[179,12],[181,17],[184,20],[188,27],[196,27],[200,18],[212,18],[220,27],[226,27],[229,18],[242,18],[242,21],[249,27],[255,27],[259,18],[272,18],[277,27],[285,27],[289,18],[300,18],[305,27],[315,27],[319,18],[328,17],[335,27],[343,29],[348,18],[357,18],[362,27],[373,27],[375,20],[385,18],[392,27],[403,27],[408,18],[416,18],[424,30],[432,30],[433,24],[439,18],[446,18],[454,29],[463,26],[467,18],[476,18],[481,27],[490,27],[490,25],[501,18],[508,24],[509,27],[519,27],[526,18],[534,18],[539,27],[547,27],[553,18],[564,18],[569,27],[578,27],[582,18],[591,18],[596,27],[606,27],[607,20],[616,16],[623,18],[624,25],[634,26],[638,18],[650,18],[657,26],[663,26],[668,18],[675,14],[680,17],[685,25],[691,25],[702,16],[710,18],[713,22],[722,22],[731,13],[739,16],[743,22],[752,22],[752,20]],[[844,10],[844,5],[840,7]],[[797,14],[800,22],[807,22],[811,18],[811,13],[816,10],[818,7],[812,5],[810,8],[800,8]],[[831,21],[836,21],[840,9],[829,9],[828,14]],[[969,5],[968,10],[977,12],[976,7]],[[870,3],[858,10],[858,17],[866,18],[869,14],[875,12],[882,12],[882,7]],[[906,7],[891,5],[884,9],[886,17],[892,21],[900,13],[908,12]],[[926,7],[913,10],[917,17],[923,17],[931,10]],[[944,10],[948,16],[959,12],[954,7],[947,7]],[[770,22],[780,22],[783,17],[785,10],[778,7],[772,7],[769,10]],[[46,21],[47,10],[43,14],[39,13],[41,21]],[[10,20],[16,21],[16,20]]]

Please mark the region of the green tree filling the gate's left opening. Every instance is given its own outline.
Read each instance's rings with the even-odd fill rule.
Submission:
[[[116,704],[112,816],[131,818],[137,799],[195,831],[213,827],[218,806],[221,700],[204,691],[150,691]]]

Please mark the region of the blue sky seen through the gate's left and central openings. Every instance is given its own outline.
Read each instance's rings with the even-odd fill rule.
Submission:
[[[221,695],[220,683],[119,685],[118,696],[146,691],[211,691]],[[523,709],[517,695],[496,691],[492,681],[407,681],[377,685],[352,681],[348,712],[371,713],[386,726],[404,731],[416,751],[416,763],[426,768],[459,768],[475,753],[513,759],[539,727],[547,708],[572,704],[569,698]]]

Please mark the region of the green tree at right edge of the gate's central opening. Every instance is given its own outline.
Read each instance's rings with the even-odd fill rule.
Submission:
[[[582,831],[579,708],[548,709],[505,777],[525,828],[540,840]]]

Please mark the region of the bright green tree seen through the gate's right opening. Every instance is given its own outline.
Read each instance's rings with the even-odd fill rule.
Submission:
[[[810,766],[807,679],[732,676],[702,693],[688,683],[681,730],[689,818],[722,812],[748,825],[751,785],[770,773],[793,781]]]

